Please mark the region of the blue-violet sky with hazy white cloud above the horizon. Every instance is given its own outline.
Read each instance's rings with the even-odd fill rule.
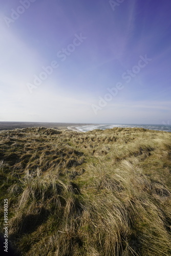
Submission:
[[[0,3],[0,121],[171,124],[171,2]]]

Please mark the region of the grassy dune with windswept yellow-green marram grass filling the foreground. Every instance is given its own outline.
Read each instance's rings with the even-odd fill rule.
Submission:
[[[171,133],[36,127],[0,139],[1,202],[19,253],[171,255]]]

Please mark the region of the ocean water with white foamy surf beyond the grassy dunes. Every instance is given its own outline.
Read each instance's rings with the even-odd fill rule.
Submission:
[[[88,132],[95,129],[105,130],[112,129],[114,127],[139,127],[148,130],[171,132],[171,125],[169,124],[89,124],[77,126],[76,129],[80,132]]]

